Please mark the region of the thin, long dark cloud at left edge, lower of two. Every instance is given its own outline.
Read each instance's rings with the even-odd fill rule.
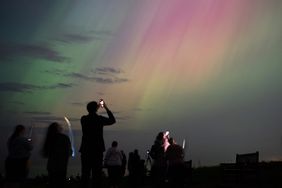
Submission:
[[[0,92],[32,92],[34,90],[66,89],[73,87],[73,84],[57,83],[50,86],[38,86],[19,82],[0,83]]]

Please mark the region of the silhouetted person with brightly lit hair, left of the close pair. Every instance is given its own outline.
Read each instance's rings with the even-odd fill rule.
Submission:
[[[151,168],[151,177],[152,181],[155,187],[163,187],[165,176],[166,176],[166,159],[165,159],[165,150],[167,144],[167,138],[168,135],[166,135],[163,132],[160,132],[155,141],[154,144],[151,147],[150,150],[150,156],[153,159],[153,164]]]

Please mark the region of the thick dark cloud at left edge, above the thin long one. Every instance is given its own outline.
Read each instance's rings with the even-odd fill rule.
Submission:
[[[44,59],[53,62],[66,62],[67,58],[47,45],[0,44],[0,60],[12,60],[17,57]]]

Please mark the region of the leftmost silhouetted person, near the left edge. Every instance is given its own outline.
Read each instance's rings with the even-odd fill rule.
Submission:
[[[33,145],[25,137],[25,127],[17,125],[8,139],[8,157],[5,161],[8,182],[22,182],[28,176],[28,163]]]

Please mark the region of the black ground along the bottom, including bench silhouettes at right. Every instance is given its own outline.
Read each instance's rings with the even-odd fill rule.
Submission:
[[[191,169],[187,173],[185,188],[282,188],[282,162],[260,163],[259,168],[247,173],[223,172],[221,166],[203,167]],[[105,177],[103,187],[107,188],[108,182]],[[17,188],[16,184],[8,184],[2,179],[0,187]],[[66,188],[79,188],[80,184],[75,178],[68,181]],[[150,177],[145,176],[139,182],[129,183],[128,177],[124,177],[120,188],[151,188]],[[176,186],[164,186],[164,188]],[[39,177],[30,179],[21,188],[48,188],[46,179]]]

